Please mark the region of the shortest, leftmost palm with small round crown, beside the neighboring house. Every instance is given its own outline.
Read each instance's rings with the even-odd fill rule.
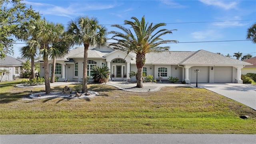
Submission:
[[[20,48],[20,54],[23,58],[31,60],[30,78],[36,78],[34,58],[38,54],[38,49],[36,47],[30,46],[30,44],[27,44],[26,46]]]

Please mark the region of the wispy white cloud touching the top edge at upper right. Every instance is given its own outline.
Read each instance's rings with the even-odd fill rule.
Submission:
[[[209,5],[209,6],[217,6],[220,8],[223,8],[225,10],[230,10],[230,9],[236,9],[236,6],[238,2],[230,2],[230,1],[220,1],[220,0],[199,0],[200,2]]]

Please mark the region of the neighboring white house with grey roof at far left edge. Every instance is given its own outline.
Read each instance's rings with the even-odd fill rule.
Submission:
[[[19,78],[21,76],[22,62],[25,62],[25,60],[20,60],[7,55],[5,56],[5,58],[0,59],[0,69],[6,69],[10,72],[9,75],[4,74],[2,81],[9,81]]]

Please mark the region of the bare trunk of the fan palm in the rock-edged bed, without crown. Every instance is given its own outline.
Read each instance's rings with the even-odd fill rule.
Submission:
[[[84,43],[84,64],[83,64],[83,86],[82,93],[87,91],[87,58],[88,58],[89,44]]]

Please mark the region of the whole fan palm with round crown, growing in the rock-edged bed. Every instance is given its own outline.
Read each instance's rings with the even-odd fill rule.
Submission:
[[[83,85],[82,92],[87,92],[87,58],[89,46],[97,44],[102,47],[106,44],[107,29],[100,25],[95,17],[79,16],[68,22],[68,34],[73,38],[74,44],[84,45]]]

